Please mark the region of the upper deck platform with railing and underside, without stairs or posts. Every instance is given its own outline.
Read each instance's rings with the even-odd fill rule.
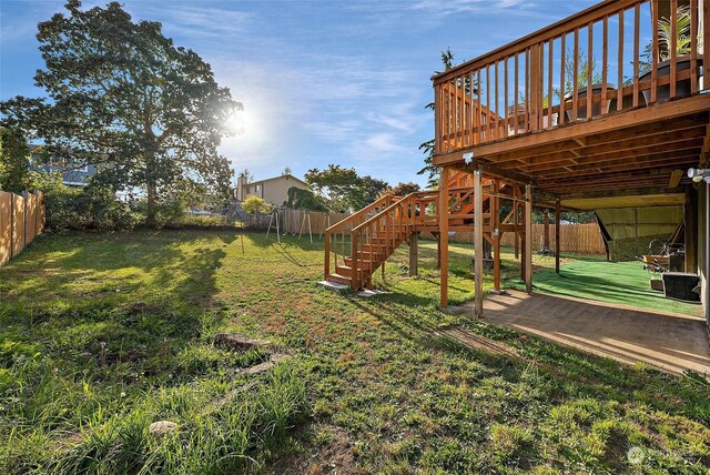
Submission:
[[[669,20],[676,41],[686,11],[687,50],[665,46],[659,21]],[[710,142],[709,18],[697,0],[606,1],[434,77],[434,163],[562,199],[678,192]]]

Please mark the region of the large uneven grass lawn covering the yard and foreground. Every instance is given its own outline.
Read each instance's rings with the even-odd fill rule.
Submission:
[[[39,238],[0,269],[0,473],[708,473],[707,383],[442,312],[420,247],[420,277],[404,246],[377,274],[389,293],[364,300],[315,284],[306,239]],[[452,246],[454,303],[470,256]],[[454,325],[520,357],[433,333]],[[267,355],[219,332],[294,357],[247,375]],[[178,431],[150,436],[160,420]]]

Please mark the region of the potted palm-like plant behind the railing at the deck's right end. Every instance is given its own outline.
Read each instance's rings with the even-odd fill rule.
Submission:
[[[679,7],[676,13],[676,71],[687,71],[690,69],[690,22],[691,22],[690,6]],[[656,67],[656,77],[662,78],[670,75],[670,51],[672,49],[672,24],[668,18],[661,18],[658,20],[658,55],[661,62]],[[698,44],[699,46],[699,44]],[[651,51],[651,54],[655,54]],[[702,75],[702,59],[698,57],[698,65],[700,68],[699,77]],[[641,81],[648,81],[651,79],[651,71],[648,71],[639,78]],[[676,82],[676,97],[682,98],[690,94],[690,79]],[[643,93],[643,100],[648,105],[651,102],[651,90],[646,89],[641,91]],[[656,89],[656,100],[663,101],[670,99],[670,84],[658,85]]]

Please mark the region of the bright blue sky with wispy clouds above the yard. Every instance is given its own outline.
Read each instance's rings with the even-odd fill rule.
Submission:
[[[84,7],[104,4],[84,1]],[[245,132],[223,142],[257,179],[328,163],[392,184],[416,175],[434,124],[429,78],[450,47],[473,59],[582,10],[589,0],[122,2],[212,64],[244,103]],[[63,0],[0,0],[0,100],[38,97],[38,21]]]

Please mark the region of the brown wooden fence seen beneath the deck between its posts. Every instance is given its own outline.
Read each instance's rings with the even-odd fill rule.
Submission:
[[[545,224],[532,224],[532,249],[541,251]],[[555,249],[555,225],[550,224],[550,249]],[[500,240],[500,245],[513,247],[515,245],[515,234],[505,233]],[[575,254],[600,254],[606,255],[601,231],[597,223],[590,224],[562,224],[559,230],[560,252]],[[474,242],[474,233],[456,233],[449,241]]]

